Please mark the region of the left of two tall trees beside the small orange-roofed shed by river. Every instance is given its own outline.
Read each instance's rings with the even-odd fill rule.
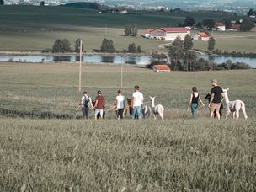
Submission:
[[[173,41],[173,45],[170,46],[168,54],[171,58],[171,67],[173,70],[184,70],[184,44],[179,36]]]

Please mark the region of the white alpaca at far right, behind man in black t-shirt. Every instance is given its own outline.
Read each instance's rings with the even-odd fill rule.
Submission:
[[[245,104],[243,103],[243,101],[241,100],[234,100],[234,101],[230,101],[228,99],[228,95],[227,95],[227,91],[229,90],[229,88],[227,89],[222,89],[223,93],[224,93],[224,99],[227,105],[227,115],[226,115],[226,119],[227,116],[232,112],[233,113],[233,119],[238,119],[239,118],[239,110],[242,109],[243,111],[243,115],[244,118],[247,119],[248,116],[245,112]]]

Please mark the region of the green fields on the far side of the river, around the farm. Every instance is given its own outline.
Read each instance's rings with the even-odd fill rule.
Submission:
[[[74,48],[75,40],[85,42],[85,50],[99,49],[104,38],[114,40],[119,51],[127,49],[132,42],[141,49],[167,52],[159,49],[165,41],[145,40],[140,35],[148,28],[176,26],[183,23],[187,14],[139,11],[135,14],[99,14],[93,9],[65,7],[0,7],[0,51],[42,51],[51,48],[57,39],[66,38]],[[192,14],[196,22],[202,19],[220,20],[227,15]],[[125,25],[136,24],[136,38],[125,37]],[[196,31],[192,31],[195,35]],[[255,32],[215,33],[216,48],[222,51],[255,52]],[[207,50],[207,42],[194,41],[195,49]]]

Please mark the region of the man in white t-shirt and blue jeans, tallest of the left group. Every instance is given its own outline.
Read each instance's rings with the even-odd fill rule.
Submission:
[[[138,119],[141,120],[141,105],[143,104],[143,94],[140,92],[140,87],[135,86],[134,93],[132,94],[132,119],[135,119],[135,116],[138,115]]]

